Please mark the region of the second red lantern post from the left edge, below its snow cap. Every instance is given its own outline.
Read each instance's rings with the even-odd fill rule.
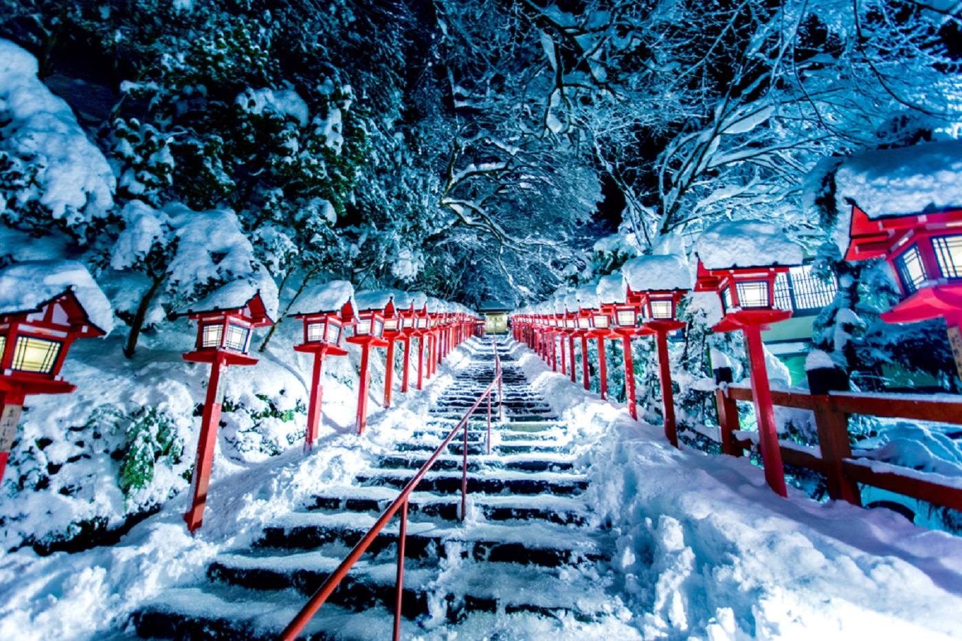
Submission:
[[[190,310],[187,315],[191,321],[197,321],[197,340],[193,351],[184,354],[183,358],[191,363],[211,365],[197,440],[197,460],[193,467],[190,509],[184,514],[184,521],[192,533],[204,521],[204,506],[214,467],[220,405],[224,396],[222,370],[232,365],[256,365],[257,359],[247,354],[251,334],[255,328],[272,325],[273,321],[267,316],[260,293],[240,307]]]

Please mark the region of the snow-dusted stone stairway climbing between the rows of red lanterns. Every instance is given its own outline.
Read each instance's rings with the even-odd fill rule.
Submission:
[[[347,487],[325,487],[301,511],[266,527],[250,549],[222,553],[206,580],[167,590],[131,627],[149,638],[276,638],[491,383],[493,339],[464,346],[468,364],[431,409],[432,421]],[[457,624],[478,612],[573,617],[619,626],[619,600],[599,578],[612,534],[582,499],[588,478],[564,444],[567,428],[532,391],[516,357],[497,345],[504,421],[486,453],[487,408],[468,423],[468,519],[459,522],[464,445],[455,440],[409,502],[403,636],[429,613]],[[374,540],[305,629],[311,638],[390,638],[397,522]],[[364,614],[354,614],[364,613]],[[350,616],[345,616],[349,615]],[[494,623],[488,621],[485,626]]]

